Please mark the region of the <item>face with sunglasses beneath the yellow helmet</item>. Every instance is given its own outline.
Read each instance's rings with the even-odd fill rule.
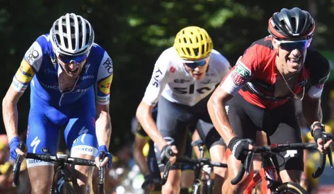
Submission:
[[[193,64],[184,64],[186,71],[196,80],[201,80],[205,77],[205,72],[209,66],[209,57],[204,59],[202,62]]]

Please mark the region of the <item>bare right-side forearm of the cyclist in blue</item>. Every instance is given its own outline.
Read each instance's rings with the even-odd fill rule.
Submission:
[[[110,135],[112,135],[112,123],[109,113],[101,111],[96,119],[96,138],[99,146],[107,146],[109,148]]]

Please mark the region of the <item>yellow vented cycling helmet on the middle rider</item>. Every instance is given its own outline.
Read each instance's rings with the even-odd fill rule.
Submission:
[[[206,30],[189,26],[177,33],[174,48],[182,59],[197,61],[210,55],[213,43]]]

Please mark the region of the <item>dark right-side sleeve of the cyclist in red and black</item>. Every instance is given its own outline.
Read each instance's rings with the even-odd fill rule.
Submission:
[[[331,72],[328,60],[314,48],[310,48],[306,55],[306,67],[310,70],[308,82],[308,96],[320,98],[324,84]]]

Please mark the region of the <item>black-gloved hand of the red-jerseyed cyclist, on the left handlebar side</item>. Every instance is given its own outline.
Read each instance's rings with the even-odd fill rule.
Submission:
[[[234,137],[229,141],[229,149],[236,159],[244,161],[248,155],[248,151],[254,149],[254,142],[251,139],[240,139]]]

